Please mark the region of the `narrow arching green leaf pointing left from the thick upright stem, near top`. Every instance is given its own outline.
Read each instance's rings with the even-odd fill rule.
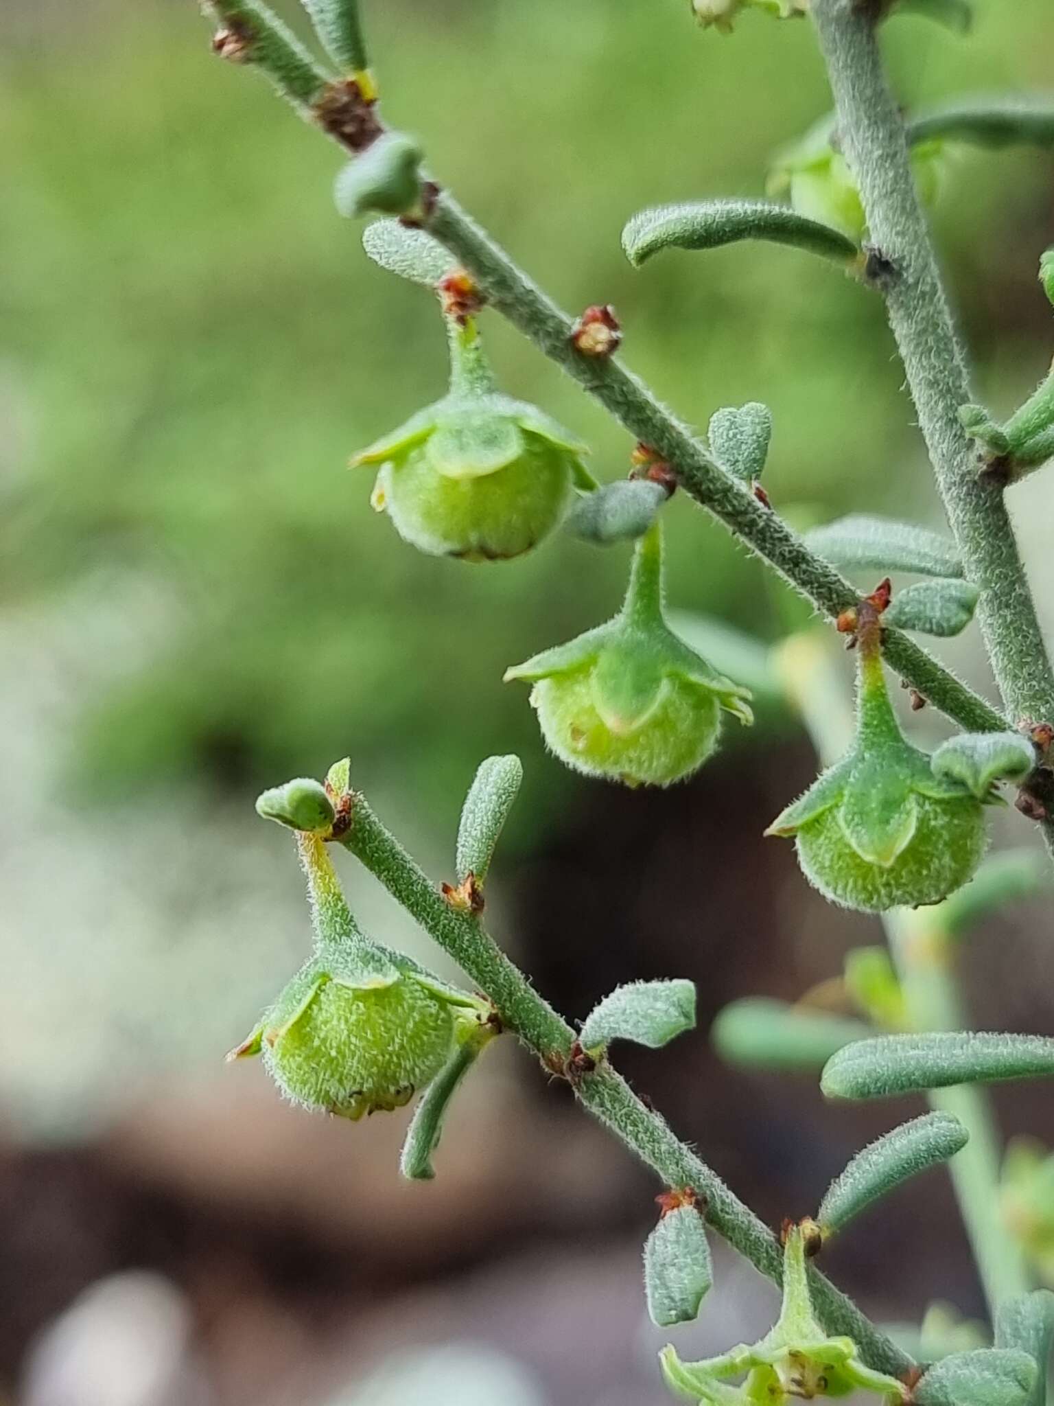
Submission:
[[[717,249],[741,239],[795,245],[842,266],[856,263],[860,253],[838,229],[765,200],[701,200],[642,209],[623,231],[623,249],[639,267],[661,249]]]

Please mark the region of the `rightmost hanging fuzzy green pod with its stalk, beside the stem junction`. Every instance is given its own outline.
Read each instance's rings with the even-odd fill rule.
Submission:
[[[857,731],[846,756],[788,806],[767,835],[794,835],[805,877],[861,912],[940,903],[985,849],[982,801],[901,733],[883,678],[880,624],[859,630]]]

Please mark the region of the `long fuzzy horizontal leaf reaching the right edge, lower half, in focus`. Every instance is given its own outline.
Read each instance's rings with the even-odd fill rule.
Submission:
[[[821,1076],[828,1098],[892,1098],[949,1084],[988,1084],[1054,1074],[1054,1039],[940,1031],[880,1035],[846,1045]]]

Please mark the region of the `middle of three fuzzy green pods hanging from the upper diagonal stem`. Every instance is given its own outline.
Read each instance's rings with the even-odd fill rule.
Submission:
[[[639,540],[623,610],[506,671],[533,683],[542,737],[562,762],[627,786],[669,786],[715,749],[722,709],[750,723],[748,689],[717,673],[666,624],[662,529]]]

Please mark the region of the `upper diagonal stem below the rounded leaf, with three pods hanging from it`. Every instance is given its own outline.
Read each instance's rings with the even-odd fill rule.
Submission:
[[[774,567],[828,620],[857,605],[859,595],[845,576],[809,551],[772,509],[715,464],[705,446],[638,377],[616,359],[585,357],[575,349],[572,319],[448,194],[440,195],[427,229],[472,274],[492,307],[596,396],[635,439],[673,464],[684,491]],[[981,733],[1006,727],[995,709],[898,630],[885,631],[884,652],[906,683],[961,727]]]

